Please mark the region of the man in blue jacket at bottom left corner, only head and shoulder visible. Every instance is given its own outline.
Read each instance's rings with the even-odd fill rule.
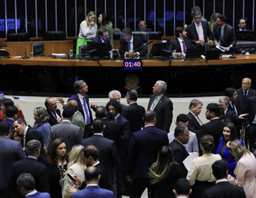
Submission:
[[[35,189],[35,180],[29,173],[22,173],[19,175],[17,182],[17,188],[27,198],[50,198],[49,193],[40,193]]]

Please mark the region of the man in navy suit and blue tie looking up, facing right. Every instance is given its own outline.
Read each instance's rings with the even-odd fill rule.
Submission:
[[[89,105],[89,96],[86,95],[88,91],[88,86],[84,80],[77,80],[74,83],[75,95],[71,96],[68,100],[76,100],[78,103],[78,111],[83,114],[85,119],[85,130],[84,138],[87,138],[89,134],[89,125],[93,123],[93,115],[91,114]]]

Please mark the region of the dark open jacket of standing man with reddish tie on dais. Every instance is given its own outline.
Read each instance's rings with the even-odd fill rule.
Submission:
[[[203,29],[204,41],[207,43],[207,37],[209,37],[210,40],[213,39],[212,32],[208,22],[201,21],[201,25]],[[196,41],[199,40],[196,25],[194,25],[194,23],[191,23],[187,27],[186,32],[187,32],[187,38],[191,39],[191,42],[193,45],[196,45]]]

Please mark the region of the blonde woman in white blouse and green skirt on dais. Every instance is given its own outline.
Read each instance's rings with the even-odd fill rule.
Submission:
[[[95,12],[90,11],[86,16],[86,19],[81,22],[77,38],[76,54],[79,54],[79,46],[86,45],[87,41],[92,41],[96,37],[97,23],[95,19]]]

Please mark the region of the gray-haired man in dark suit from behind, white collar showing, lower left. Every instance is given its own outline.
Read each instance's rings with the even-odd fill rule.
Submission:
[[[8,182],[8,189],[14,193],[11,197],[23,197],[16,189],[16,181],[21,173],[30,173],[35,179],[36,189],[39,192],[48,192],[47,166],[38,162],[41,143],[38,140],[27,142],[27,158],[13,163],[12,173]]]

